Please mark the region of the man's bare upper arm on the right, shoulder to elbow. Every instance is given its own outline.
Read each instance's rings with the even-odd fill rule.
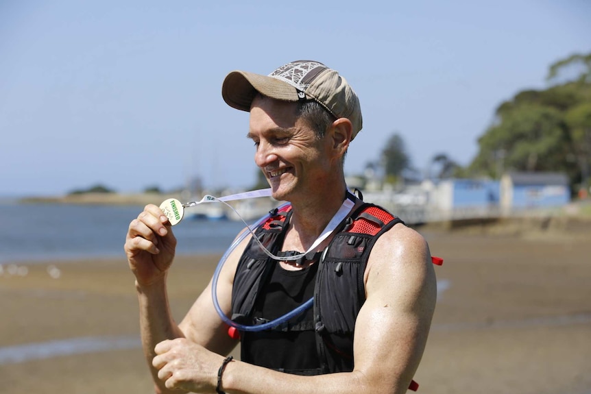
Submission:
[[[406,228],[395,234],[402,237],[381,238],[370,257],[354,358],[355,369],[369,375],[369,382],[405,392],[424,351],[437,291],[422,237]]]

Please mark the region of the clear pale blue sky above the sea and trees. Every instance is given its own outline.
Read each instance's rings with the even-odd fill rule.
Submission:
[[[591,51],[590,20],[586,0],[0,0],[0,196],[248,188],[248,113],[221,82],[293,60],[360,97],[346,174],[394,133],[420,171],[467,165],[500,103]]]

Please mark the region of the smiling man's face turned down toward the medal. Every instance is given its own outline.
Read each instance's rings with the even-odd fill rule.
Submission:
[[[273,197],[283,201],[305,198],[330,175],[326,140],[296,116],[296,103],[256,97],[250,108],[254,162],[263,171]]]

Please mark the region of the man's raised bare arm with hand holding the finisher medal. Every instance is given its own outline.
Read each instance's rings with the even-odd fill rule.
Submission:
[[[166,278],[175,248],[176,238],[171,225],[158,207],[146,206],[138,218],[130,223],[124,249],[130,269],[136,276],[142,347],[157,393],[169,392],[164,382],[158,378],[158,369],[152,367],[152,360],[156,356],[154,348],[158,343],[187,337],[214,352],[229,352],[234,346],[230,338],[223,335],[223,323],[213,308],[210,287],[197,298],[180,325],[173,320]],[[230,260],[236,255],[232,254],[228,258],[229,267],[224,268],[224,275],[219,283],[222,295],[231,294],[232,269],[235,269],[235,264]],[[220,304],[226,312],[230,309],[229,298],[221,296]]]

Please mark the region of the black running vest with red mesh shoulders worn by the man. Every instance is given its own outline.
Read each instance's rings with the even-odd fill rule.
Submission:
[[[313,293],[314,297],[313,308],[279,327],[254,333],[241,332],[243,360],[300,375],[353,370],[353,333],[357,314],[365,301],[363,273],[367,259],[379,236],[396,223],[403,222],[379,206],[363,203],[352,195],[349,197],[357,201],[356,208],[337,226],[335,236],[322,252],[322,256],[306,256],[310,260],[318,258],[313,264],[317,267],[304,270],[317,270],[313,280],[313,292],[308,283],[308,293]],[[290,206],[282,208],[281,211],[274,210],[272,217],[255,231],[256,237],[273,254],[278,254],[283,243],[290,216]],[[265,308],[269,310],[269,304],[265,306],[265,303],[261,302],[261,299],[273,297],[273,294],[276,297],[274,290],[268,288],[269,283],[282,286],[282,279],[277,273],[273,274],[276,269],[281,269],[276,265],[277,262],[269,258],[258,243],[251,239],[234,276],[233,321],[243,325],[256,325],[278,317],[263,315]],[[304,282],[302,286],[306,286]],[[285,291],[285,294],[294,293],[293,289],[282,291]],[[300,304],[310,298],[310,295],[297,296],[300,297]],[[291,297],[289,302],[293,304],[296,298]],[[293,309],[291,304],[289,310]],[[283,315],[285,311],[276,308],[271,313]],[[273,350],[285,352],[285,349],[289,349],[287,352],[293,354],[282,354],[275,358],[276,362],[283,364],[281,360],[287,357],[289,360],[304,360],[303,365],[293,365],[291,362],[286,368],[285,364],[268,365],[266,360],[260,359],[261,354],[265,352],[257,352],[258,346],[285,343],[282,340],[287,341],[287,345],[279,345]],[[300,341],[300,346],[291,346],[289,341]]]

